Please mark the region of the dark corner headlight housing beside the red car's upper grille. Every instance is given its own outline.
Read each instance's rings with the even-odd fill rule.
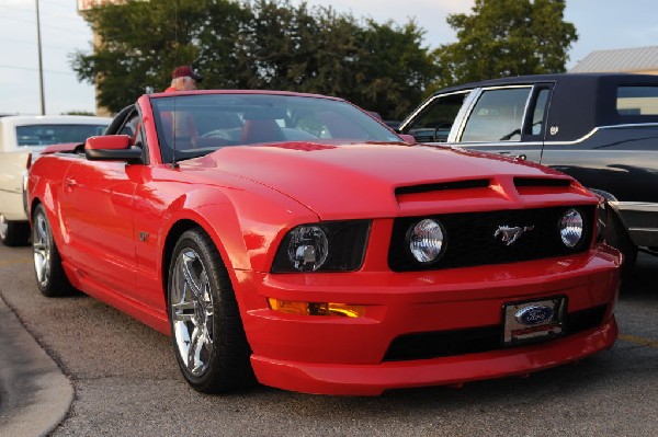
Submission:
[[[273,273],[353,272],[361,267],[368,220],[300,225],[283,238]]]

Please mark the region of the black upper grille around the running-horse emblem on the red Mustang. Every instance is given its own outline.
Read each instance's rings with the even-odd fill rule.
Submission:
[[[591,240],[594,207],[577,207],[583,216],[586,232],[581,244],[574,249],[563,244],[558,230],[559,219],[569,208],[563,206],[398,218],[393,227],[388,265],[394,272],[430,271],[541,260],[583,252]],[[408,249],[409,229],[424,218],[440,221],[445,231],[445,250],[434,264],[416,262]],[[508,245],[500,235],[494,237],[501,226],[532,227],[532,230],[526,230]]]

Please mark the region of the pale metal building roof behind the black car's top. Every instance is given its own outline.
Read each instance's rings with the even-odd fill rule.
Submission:
[[[658,46],[595,50],[579,61],[569,72],[656,71]]]

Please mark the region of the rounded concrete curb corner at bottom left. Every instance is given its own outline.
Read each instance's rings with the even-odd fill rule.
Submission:
[[[0,436],[45,436],[66,417],[73,387],[0,297]]]

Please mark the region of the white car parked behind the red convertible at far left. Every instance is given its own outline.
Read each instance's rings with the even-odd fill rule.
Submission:
[[[112,118],[83,115],[11,115],[0,117],[0,241],[5,245],[27,242],[30,225],[25,214],[25,175],[49,145],[84,142],[102,135]]]

